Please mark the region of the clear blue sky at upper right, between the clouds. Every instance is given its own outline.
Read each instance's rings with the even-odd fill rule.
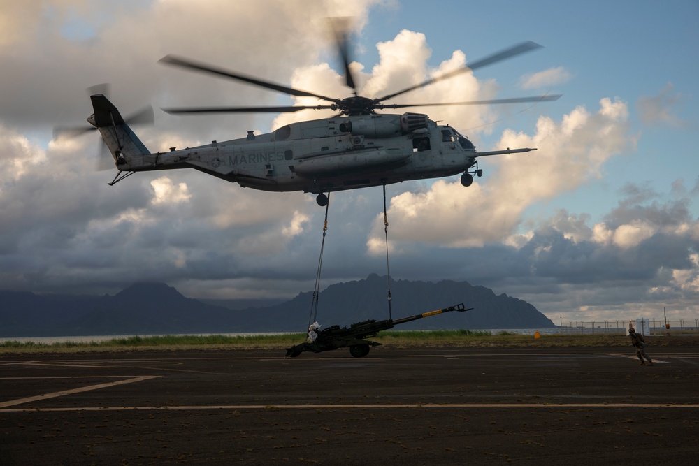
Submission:
[[[696,181],[699,111],[693,94],[699,75],[698,21],[696,1],[435,1],[426,6],[408,0],[373,10],[361,34],[366,48],[360,57],[374,63],[377,53],[370,45],[401,29],[426,34],[433,65],[457,48],[477,58],[524,40],[544,45],[478,71],[482,78],[498,80],[503,96],[526,94],[519,89],[523,73],[563,66],[572,76],[551,88],[552,93],[563,94],[560,101],[494,124],[495,134],[505,127],[531,131],[540,112],[560,119],[575,105],[595,108],[605,96],[626,101],[632,109],[642,96],[664,97],[674,124],[644,124],[632,111],[633,129],[642,133],[637,150],[610,160],[603,179],[548,204],[550,209],[580,210],[600,219],[629,182],[668,193],[679,177],[687,183]],[[541,209],[533,206],[531,213]],[[693,212],[699,214],[699,205],[693,205]]]

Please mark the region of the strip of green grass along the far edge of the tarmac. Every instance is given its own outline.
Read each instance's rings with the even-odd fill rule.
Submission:
[[[286,349],[305,339],[304,333],[279,335],[159,335],[113,338],[101,342],[0,342],[0,354],[77,353],[96,351],[177,351],[182,349]],[[698,335],[650,337],[652,346],[699,346]],[[545,348],[545,347],[628,347],[626,335],[598,333],[591,335],[558,334],[519,335],[483,330],[412,330],[385,331],[369,340],[389,348]]]

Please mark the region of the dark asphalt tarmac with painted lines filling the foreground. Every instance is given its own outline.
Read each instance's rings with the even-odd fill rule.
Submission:
[[[699,349],[0,356],[0,464],[696,464]]]

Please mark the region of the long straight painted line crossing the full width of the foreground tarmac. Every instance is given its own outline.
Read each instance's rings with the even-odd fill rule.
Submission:
[[[152,378],[152,377],[148,377]],[[136,381],[136,380],[134,380]],[[125,381],[124,383],[128,383]],[[0,405],[1,407],[2,405]],[[667,403],[428,403],[425,405],[212,405],[212,406],[111,406],[0,409],[0,412],[73,412],[73,411],[180,411],[223,409],[435,409],[435,408],[699,408],[699,404],[675,405]]]

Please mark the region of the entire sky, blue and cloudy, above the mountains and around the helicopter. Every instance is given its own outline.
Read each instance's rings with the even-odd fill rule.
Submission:
[[[537,105],[421,110],[479,150],[539,150],[484,159],[484,177],[468,189],[456,178],[389,187],[395,279],[488,286],[555,322],[653,318],[663,307],[696,316],[696,1],[5,1],[3,287],[115,293],[151,280],[199,298],[278,300],[312,289],[323,214],[312,196],[252,191],[194,170],[108,187],[113,173],[94,171],[96,139],[52,140],[52,127],[85,122],[85,89],[101,82],[124,113],[295,102],[157,64],[170,53],[347,96],[324,34],[330,16],[355,17],[362,95],[522,41],[544,48],[404,101],[563,94]],[[156,110],[154,126],[134,130],[157,151],[321,117]],[[333,194],[323,286],[385,273],[381,211],[380,189]]]

